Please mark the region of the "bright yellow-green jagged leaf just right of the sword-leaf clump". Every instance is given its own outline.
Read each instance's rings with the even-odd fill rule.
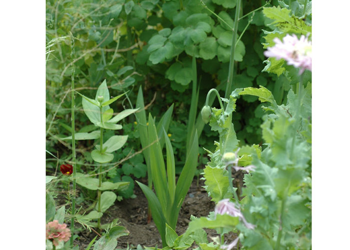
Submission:
[[[205,189],[213,202],[231,198],[228,173],[225,169],[206,166],[204,169]]]

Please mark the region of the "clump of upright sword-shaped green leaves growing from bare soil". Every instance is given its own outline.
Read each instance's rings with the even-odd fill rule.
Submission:
[[[166,225],[168,224],[175,230],[177,218],[181,209],[184,198],[191,186],[198,157],[198,137],[197,133],[186,159],[183,170],[175,183],[175,161],[173,149],[166,132],[163,129],[163,135],[166,145],[167,164],[165,163],[162,154],[162,148],[157,136],[157,129],[154,120],[149,114],[148,117],[148,139],[150,142],[148,154],[150,162],[150,172],[152,183],[154,184],[155,193],[150,187],[137,182],[145,194],[149,206],[152,211],[152,217],[156,227],[161,235],[163,247],[166,246]]]

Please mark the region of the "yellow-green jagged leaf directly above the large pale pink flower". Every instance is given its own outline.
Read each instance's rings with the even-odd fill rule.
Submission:
[[[265,16],[273,19],[272,24],[276,25],[283,32],[291,32],[297,34],[311,34],[311,26],[307,25],[305,21],[289,13],[291,10],[282,8],[280,6],[264,7],[263,13]]]

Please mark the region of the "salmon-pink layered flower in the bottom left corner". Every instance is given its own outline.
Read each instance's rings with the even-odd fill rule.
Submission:
[[[46,240],[50,240],[54,246],[58,246],[60,241],[67,242],[70,238],[70,230],[65,223],[58,224],[58,221],[46,224]]]

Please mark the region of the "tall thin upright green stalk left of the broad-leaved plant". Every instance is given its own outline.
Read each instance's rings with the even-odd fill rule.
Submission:
[[[71,211],[71,220],[70,220],[70,232],[72,237],[70,238],[70,245],[73,247],[73,236],[74,236],[74,215],[75,215],[75,190],[76,190],[76,183],[75,183],[75,174],[76,174],[76,156],[75,156],[75,118],[74,118],[74,109],[75,109],[75,95],[74,95],[74,74],[75,74],[75,67],[74,67],[74,57],[75,57],[75,49],[74,49],[74,36],[72,33],[70,33],[71,38],[71,57],[72,57],[72,77],[71,77],[71,128],[72,128],[72,160],[73,160],[73,195],[72,195],[72,211]]]

